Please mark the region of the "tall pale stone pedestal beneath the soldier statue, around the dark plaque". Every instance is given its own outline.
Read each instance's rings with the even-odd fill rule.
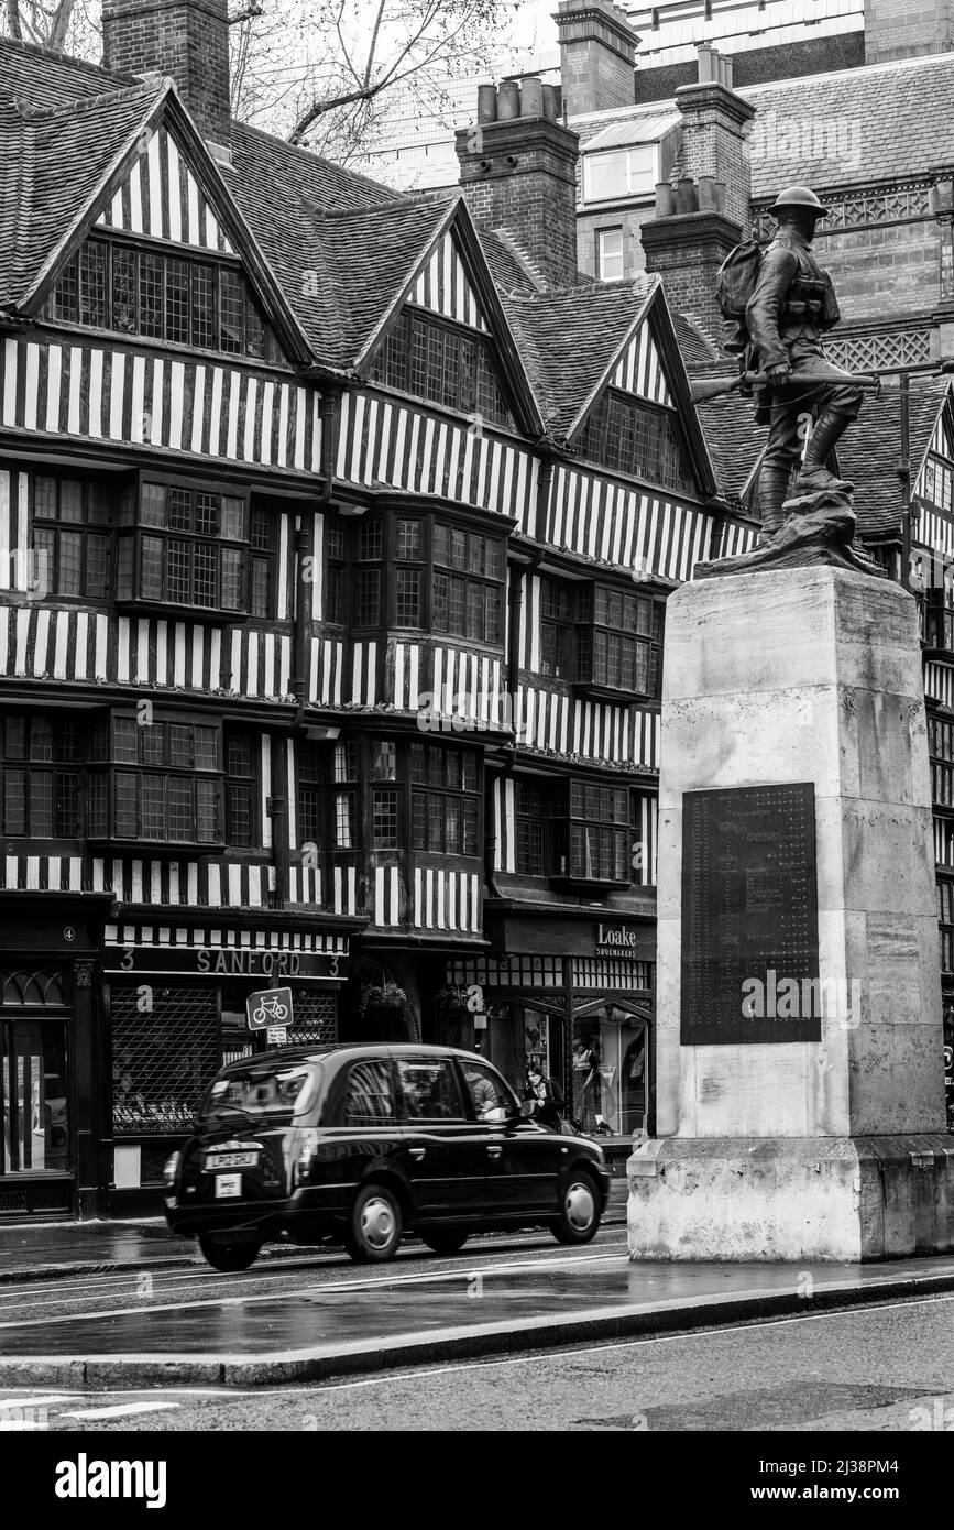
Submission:
[[[631,1256],[954,1247],[913,598],[833,568],[683,586],[667,609],[662,741],[659,1135],[628,1161]],[[795,782],[815,791],[818,976],[847,1007],[823,1013],[818,1040],[685,1045],[683,796]]]

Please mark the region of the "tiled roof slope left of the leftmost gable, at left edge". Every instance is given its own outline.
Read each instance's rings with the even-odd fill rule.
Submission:
[[[164,89],[153,80],[55,110],[0,95],[0,303],[29,292]]]

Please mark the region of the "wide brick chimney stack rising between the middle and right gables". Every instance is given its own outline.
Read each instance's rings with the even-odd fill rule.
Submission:
[[[535,75],[480,86],[477,125],[454,138],[474,217],[508,236],[549,288],[576,285],[579,139],[560,107],[560,87]]]

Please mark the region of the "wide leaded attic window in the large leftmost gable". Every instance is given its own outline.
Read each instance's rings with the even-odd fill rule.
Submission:
[[[235,266],[119,239],[89,239],[57,278],[54,318],[200,350],[281,361],[249,285]]]

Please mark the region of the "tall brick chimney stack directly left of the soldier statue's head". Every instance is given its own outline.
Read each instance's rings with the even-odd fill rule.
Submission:
[[[682,179],[656,187],[642,225],[647,271],[662,277],[670,304],[711,340],[723,338],[716,272],[749,228],[751,171],[745,148],[755,109],[732,90],[732,61],[699,49],[699,81],[680,86]]]

